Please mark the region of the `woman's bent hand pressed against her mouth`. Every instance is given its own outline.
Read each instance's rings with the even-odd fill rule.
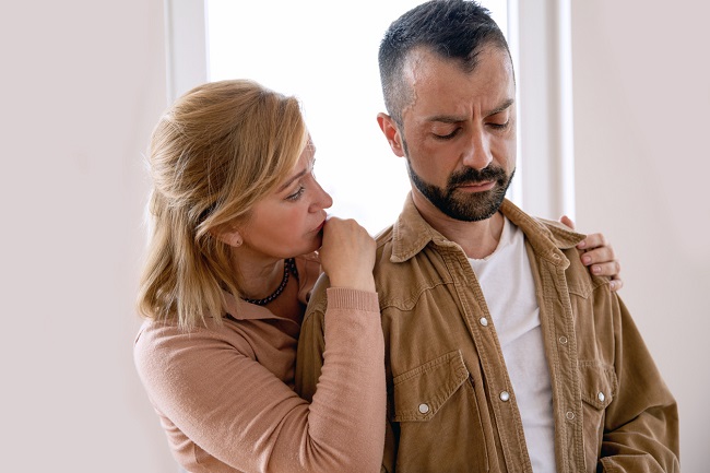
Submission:
[[[319,253],[331,286],[375,292],[375,239],[357,222],[330,216]]]

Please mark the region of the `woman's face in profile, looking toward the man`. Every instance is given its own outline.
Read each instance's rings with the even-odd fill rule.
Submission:
[[[316,147],[309,140],[295,169],[239,225],[244,239],[240,251],[282,259],[320,248],[326,209],[333,200],[313,177],[315,154]]]

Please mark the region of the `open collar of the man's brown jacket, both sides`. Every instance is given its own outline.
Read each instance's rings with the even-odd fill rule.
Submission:
[[[536,255],[554,264],[569,265],[561,250],[570,249],[584,239],[584,235],[567,228],[559,222],[534,218],[506,199],[500,212],[523,230]],[[392,256],[394,263],[404,262],[421,252],[429,243],[438,247],[461,247],[434,229],[414,205],[412,193],[392,227]],[[462,250],[461,250],[462,251]]]

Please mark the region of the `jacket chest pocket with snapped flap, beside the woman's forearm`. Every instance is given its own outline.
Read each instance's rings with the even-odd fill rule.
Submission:
[[[393,379],[397,472],[487,471],[471,376],[459,351]]]

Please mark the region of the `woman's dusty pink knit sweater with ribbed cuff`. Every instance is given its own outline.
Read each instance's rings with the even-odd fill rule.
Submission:
[[[297,264],[305,301],[320,265],[313,257]],[[311,404],[293,391],[300,327],[234,298],[227,311],[238,320],[191,332],[147,321],[135,339],[138,373],[178,462],[191,473],[378,472],[386,388],[377,294],[328,289]]]

